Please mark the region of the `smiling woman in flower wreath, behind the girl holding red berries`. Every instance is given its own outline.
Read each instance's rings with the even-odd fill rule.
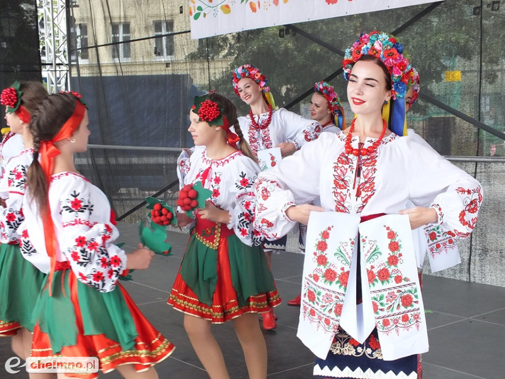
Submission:
[[[243,65],[233,71],[233,88],[238,97],[250,106],[249,114],[238,122],[252,153],[278,147],[282,157],[299,150],[307,141],[317,138],[316,124],[284,108],[276,109],[267,86],[267,78],[252,65]],[[266,242],[265,254],[270,265],[273,250],[285,250],[286,236]],[[263,328],[274,329],[277,317],[273,311],[263,315]]]

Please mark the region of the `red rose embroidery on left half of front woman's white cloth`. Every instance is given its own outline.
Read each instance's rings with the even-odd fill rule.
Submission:
[[[340,266],[340,269],[337,268],[336,262],[328,258],[326,241],[330,238],[332,229],[333,226],[328,226],[323,230],[314,246],[312,260],[316,266],[304,281],[302,314],[304,319],[316,323],[318,328],[335,333],[342,313],[349,270]],[[349,267],[354,247],[355,241],[349,240],[341,243],[334,254],[338,261],[346,262],[342,262],[345,267]],[[320,282],[325,287],[319,286]],[[334,286],[334,289],[329,286]]]

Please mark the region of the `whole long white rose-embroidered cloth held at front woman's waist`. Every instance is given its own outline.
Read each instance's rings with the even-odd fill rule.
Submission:
[[[356,214],[312,212],[301,295],[297,337],[322,359],[338,326],[360,343],[376,327],[384,360],[428,351],[407,215],[360,223]]]

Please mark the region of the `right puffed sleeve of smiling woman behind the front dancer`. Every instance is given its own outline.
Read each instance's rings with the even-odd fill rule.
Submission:
[[[321,126],[313,120],[301,117],[300,115],[279,109],[279,117],[286,130],[286,141],[292,142],[296,150],[300,150],[307,142],[312,141],[321,133]],[[319,128],[319,132],[316,130]]]

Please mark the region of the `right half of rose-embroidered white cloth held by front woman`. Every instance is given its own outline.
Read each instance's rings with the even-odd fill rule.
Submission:
[[[387,215],[361,223],[360,246],[363,304],[372,305],[384,360],[427,352],[409,216]]]

